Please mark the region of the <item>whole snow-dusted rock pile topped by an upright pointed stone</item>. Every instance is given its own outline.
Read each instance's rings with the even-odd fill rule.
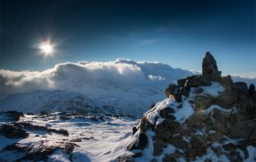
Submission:
[[[127,145],[133,156],[119,161],[145,153],[148,161],[256,160],[255,86],[221,76],[209,52],[202,67],[202,75],[179,79],[165,89],[166,99],[133,127]]]

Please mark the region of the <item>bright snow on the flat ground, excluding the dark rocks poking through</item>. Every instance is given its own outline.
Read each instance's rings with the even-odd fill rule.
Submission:
[[[54,145],[59,142],[71,142],[77,145],[72,157],[62,151],[48,156],[48,161],[112,161],[125,154],[126,142],[131,138],[131,127],[136,121],[130,117],[112,116],[25,116],[18,122],[31,123],[53,129],[68,130],[69,137],[41,130],[28,130],[29,136],[23,139],[10,139],[0,136],[0,161],[15,161],[22,157],[17,151],[4,151],[4,147],[13,143],[25,144],[37,148],[39,141]],[[6,122],[2,122],[4,124]],[[130,153],[131,154],[131,153]]]

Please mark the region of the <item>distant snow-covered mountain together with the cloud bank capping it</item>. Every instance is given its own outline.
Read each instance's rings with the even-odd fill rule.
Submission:
[[[0,70],[0,111],[62,110],[139,117],[165,98],[167,85],[193,74],[162,63],[127,59],[63,63],[42,72]]]

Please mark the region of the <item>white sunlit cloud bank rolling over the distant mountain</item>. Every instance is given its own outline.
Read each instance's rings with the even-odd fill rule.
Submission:
[[[87,92],[88,87],[108,88],[159,87],[164,89],[176,79],[194,73],[157,62],[134,62],[117,59],[111,62],[63,63],[48,70],[0,70],[0,98],[35,90],[67,90]],[[256,78],[235,76],[236,81],[256,83]],[[99,88],[98,88],[99,89]],[[91,90],[92,91],[92,90]],[[92,92],[91,92],[92,93]],[[95,95],[100,92],[93,92]]]

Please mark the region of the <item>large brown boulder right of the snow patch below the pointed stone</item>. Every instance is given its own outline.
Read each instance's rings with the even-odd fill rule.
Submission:
[[[231,108],[238,101],[238,95],[234,91],[226,91],[216,98],[216,104],[224,108]]]

